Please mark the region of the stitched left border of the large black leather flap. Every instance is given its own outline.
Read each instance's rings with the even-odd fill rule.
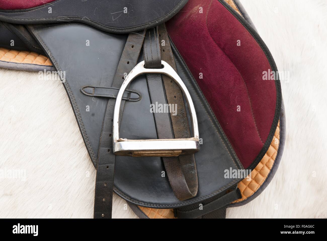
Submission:
[[[57,61],[56,61],[56,59],[55,59],[55,57],[52,55],[52,53],[50,52],[50,50],[48,49],[48,47],[45,45],[45,43],[43,42],[43,40],[40,38],[40,36],[36,33],[36,32],[34,32],[34,34],[35,34],[35,36],[38,38],[38,40],[43,44],[43,47],[45,48],[45,50],[47,51],[47,53],[52,57],[52,60],[53,60],[53,62],[54,62],[54,64],[56,65],[56,67],[61,71],[61,69],[60,69],[60,67],[59,67],[59,65],[58,65],[58,63],[57,63]],[[89,141],[89,138],[88,138],[88,136],[87,136],[87,133],[86,133],[86,130],[85,130],[85,127],[84,127],[84,124],[83,124],[83,121],[82,121],[82,119],[81,119],[81,116],[80,116],[80,113],[79,113],[79,110],[78,110],[78,108],[77,108],[77,103],[76,103],[76,100],[75,100],[75,96],[73,95],[73,92],[72,92],[72,90],[70,89],[70,86],[69,86],[69,84],[67,83],[67,82],[64,82],[63,83],[65,86],[67,86],[67,90],[68,90],[68,93],[69,93],[69,95],[72,97],[72,103],[73,103],[73,105],[74,105],[74,108],[76,108],[76,113],[77,113],[77,118],[78,118],[78,120],[79,120],[79,122],[80,122],[80,125],[81,125],[81,127],[82,127],[82,132],[83,132],[83,134],[84,134],[84,136],[85,136],[85,140],[86,140],[86,144],[87,144],[87,146],[88,146],[88,149],[90,150],[90,153],[91,153],[91,155],[92,155],[92,157],[94,158],[94,160],[95,160],[95,163],[96,163],[96,158],[95,158],[95,153],[94,153],[94,151],[93,151],[93,149],[92,149],[92,147],[91,147],[91,144],[90,144],[90,141]]]

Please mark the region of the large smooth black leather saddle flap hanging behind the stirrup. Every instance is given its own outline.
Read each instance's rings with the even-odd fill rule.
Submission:
[[[66,73],[63,85],[91,160],[96,166],[108,100],[86,95],[80,88],[112,86],[127,35],[104,33],[78,23],[31,25],[29,30],[41,43],[56,69]],[[65,44],[62,45],[53,36],[65,38]],[[85,46],[84,40],[88,38],[94,44]],[[213,197],[240,181],[237,178],[225,178],[223,170],[243,169],[202,91],[173,45],[172,51],[177,73],[194,103],[199,135],[203,139],[201,151],[195,154],[199,188],[196,197],[180,201],[170,186],[168,176],[162,176],[165,168],[160,157],[117,156],[114,191],[129,202],[152,208],[182,207]],[[70,58],[73,55],[74,62]],[[143,59],[141,52],[138,62]],[[149,111],[151,103],[146,77],[136,77],[129,89],[139,93],[142,98],[125,103],[119,130],[121,137],[134,140],[157,139],[154,116]],[[106,121],[111,122],[110,119]]]

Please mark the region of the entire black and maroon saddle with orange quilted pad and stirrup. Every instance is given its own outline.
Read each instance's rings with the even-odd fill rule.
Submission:
[[[0,0],[0,67],[59,74],[95,218],[113,191],[140,218],[224,218],[281,160],[277,67],[239,1],[160,3]]]

